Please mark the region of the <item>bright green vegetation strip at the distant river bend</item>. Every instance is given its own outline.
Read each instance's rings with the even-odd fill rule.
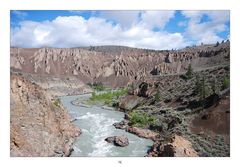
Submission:
[[[126,95],[128,92],[127,89],[120,89],[117,91],[107,91],[106,93],[96,94],[92,93],[92,96],[89,98],[88,103],[94,104],[97,102],[104,103],[112,106],[114,99],[117,99],[121,96]]]

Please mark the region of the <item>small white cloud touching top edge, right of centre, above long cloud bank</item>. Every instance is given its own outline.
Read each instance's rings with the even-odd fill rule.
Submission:
[[[175,11],[145,11],[141,15],[141,23],[148,28],[159,27],[163,29],[171,18],[175,15]]]

